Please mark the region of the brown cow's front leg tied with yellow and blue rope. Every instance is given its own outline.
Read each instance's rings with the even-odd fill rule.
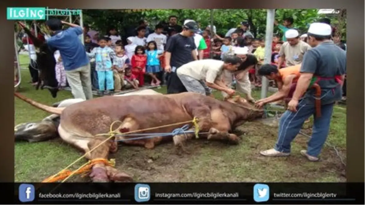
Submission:
[[[210,113],[209,107],[205,105],[192,109],[192,115],[198,119],[199,132],[208,132],[211,128],[212,121]],[[195,131],[195,128],[192,128],[189,131]],[[175,135],[173,136],[174,144],[176,146],[182,145],[183,142],[192,139],[193,136],[193,133]]]

